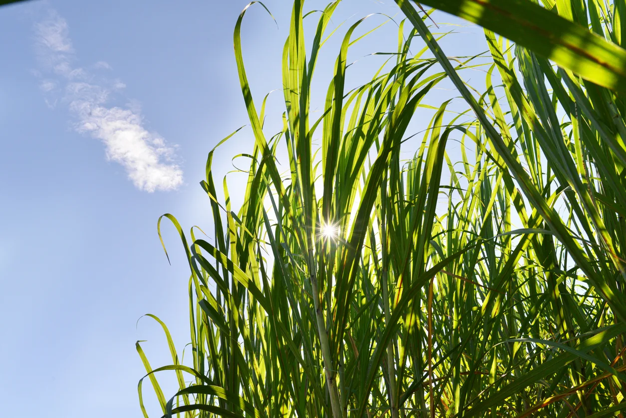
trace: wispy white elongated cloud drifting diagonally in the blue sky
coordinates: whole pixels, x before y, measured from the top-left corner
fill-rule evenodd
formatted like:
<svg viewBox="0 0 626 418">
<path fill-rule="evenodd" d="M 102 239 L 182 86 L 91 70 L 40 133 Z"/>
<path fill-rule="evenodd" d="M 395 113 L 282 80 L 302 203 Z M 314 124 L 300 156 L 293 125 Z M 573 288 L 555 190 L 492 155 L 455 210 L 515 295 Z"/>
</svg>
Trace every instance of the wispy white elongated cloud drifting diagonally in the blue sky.
<svg viewBox="0 0 626 418">
<path fill-rule="evenodd" d="M 143 126 L 138 108 L 108 107 L 110 96 L 125 88 L 120 80 L 96 78 L 75 65 L 76 52 L 69 38 L 68 24 L 56 11 L 35 24 L 36 52 L 42 70 L 39 87 L 46 103 L 54 107 L 60 94 L 78 122 L 77 132 L 87 133 L 105 145 L 106 157 L 125 167 L 128 178 L 147 192 L 177 189 L 183 172 L 176 164 L 176 145 L 168 145 L 158 133 Z M 92 68 L 111 70 L 105 61 Z"/>
</svg>

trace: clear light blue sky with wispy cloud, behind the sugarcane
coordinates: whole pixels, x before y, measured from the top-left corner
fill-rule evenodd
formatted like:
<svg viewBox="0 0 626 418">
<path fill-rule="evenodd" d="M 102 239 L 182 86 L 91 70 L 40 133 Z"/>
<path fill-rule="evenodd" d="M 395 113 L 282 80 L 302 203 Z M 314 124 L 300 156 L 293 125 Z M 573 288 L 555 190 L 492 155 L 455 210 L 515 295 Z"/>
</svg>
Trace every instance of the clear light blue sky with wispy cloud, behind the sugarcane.
<svg viewBox="0 0 626 418">
<path fill-rule="evenodd" d="M 245 4 L 59 0 L 0 9 L 4 416 L 139 417 L 136 386 L 144 369 L 135 341 L 148 340 L 143 348 L 153 367 L 169 361 L 160 327 L 143 318 L 136 328 L 136 321 L 160 316 L 179 354 L 188 342 L 187 266 L 168 226 L 167 263 L 156 220 L 171 212 L 187 231 L 196 224 L 210 229 L 198 185 L 207 153 L 247 122 L 232 50 Z M 278 28 L 255 7 L 242 29 L 257 100 L 280 88 L 291 6 L 265 4 Z M 305 8 L 325 4 L 312 0 Z M 392 0 L 346 0 L 333 24 L 369 13 L 398 11 Z M 384 19 L 372 16 L 364 27 Z M 443 42 L 449 55 L 486 50 L 477 31 L 458 30 Z M 340 40 L 326 46 L 317 65 L 323 89 L 314 92 L 313 107 L 323 103 Z M 362 57 L 396 45 L 393 24 L 357 44 L 353 80 L 369 80 L 380 62 Z M 433 103 L 450 95 L 441 90 Z M 282 123 L 279 112 L 276 93 L 269 128 Z M 217 154 L 218 172 L 251 149 L 244 128 Z M 161 380 L 171 393 L 172 376 Z M 150 385 L 144 387 L 148 412 L 160 416 Z"/>
</svg>

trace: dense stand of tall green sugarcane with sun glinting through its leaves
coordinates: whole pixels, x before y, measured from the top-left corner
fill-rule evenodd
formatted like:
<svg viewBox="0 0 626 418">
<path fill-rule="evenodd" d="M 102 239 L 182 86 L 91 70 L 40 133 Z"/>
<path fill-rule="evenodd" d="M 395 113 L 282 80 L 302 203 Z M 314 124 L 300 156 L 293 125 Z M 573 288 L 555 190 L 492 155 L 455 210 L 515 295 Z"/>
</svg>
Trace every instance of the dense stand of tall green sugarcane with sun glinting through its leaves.
<svg viewBox="0 0 626 418">
<path fill-rule="evenodd" d="M 188 241 L 171 214 L 158 221 L 159 236 L 164 219 L 176 227 L 187 256 L 193 357 L 183 365 L 152 316 L 172 364 L 152 369 L 136 347 L 163 415 L 600 417 L 626 409 L 620 93 L 489 29 L 492 62 L 478 93 L 459 71 L 480 64 L 446 57 L 426 14 L 398 3 L 413 28 L 399 23 L 393 58 L 348 90 L 347 52 L 369 34 L 356 35 L 363 19 L 350 26 L 314 118 L 312 76 L 339 1 L 319 13 L 307 53 L 309 14 L 295 0 L 283 128 L 274 134 L 264 128 L 267 96 L 257 111 L 242 56 L 252 3 L 240 14 L 235 58 L 254 135 L 244 203 L 231 207 L 226 180 L 218 199 L 213 149 L 201 182 L 212 238 L 192 228 Z M 592 23 L 612 41 L 607 22 Z M 446 79 L 466 112 L 425 104 Z M 424 117 L 428 128 L 413 132 L 411 121 Z M 162 370 L 174 370 L 179 385 L 167 397 Z"/>
</svg>

